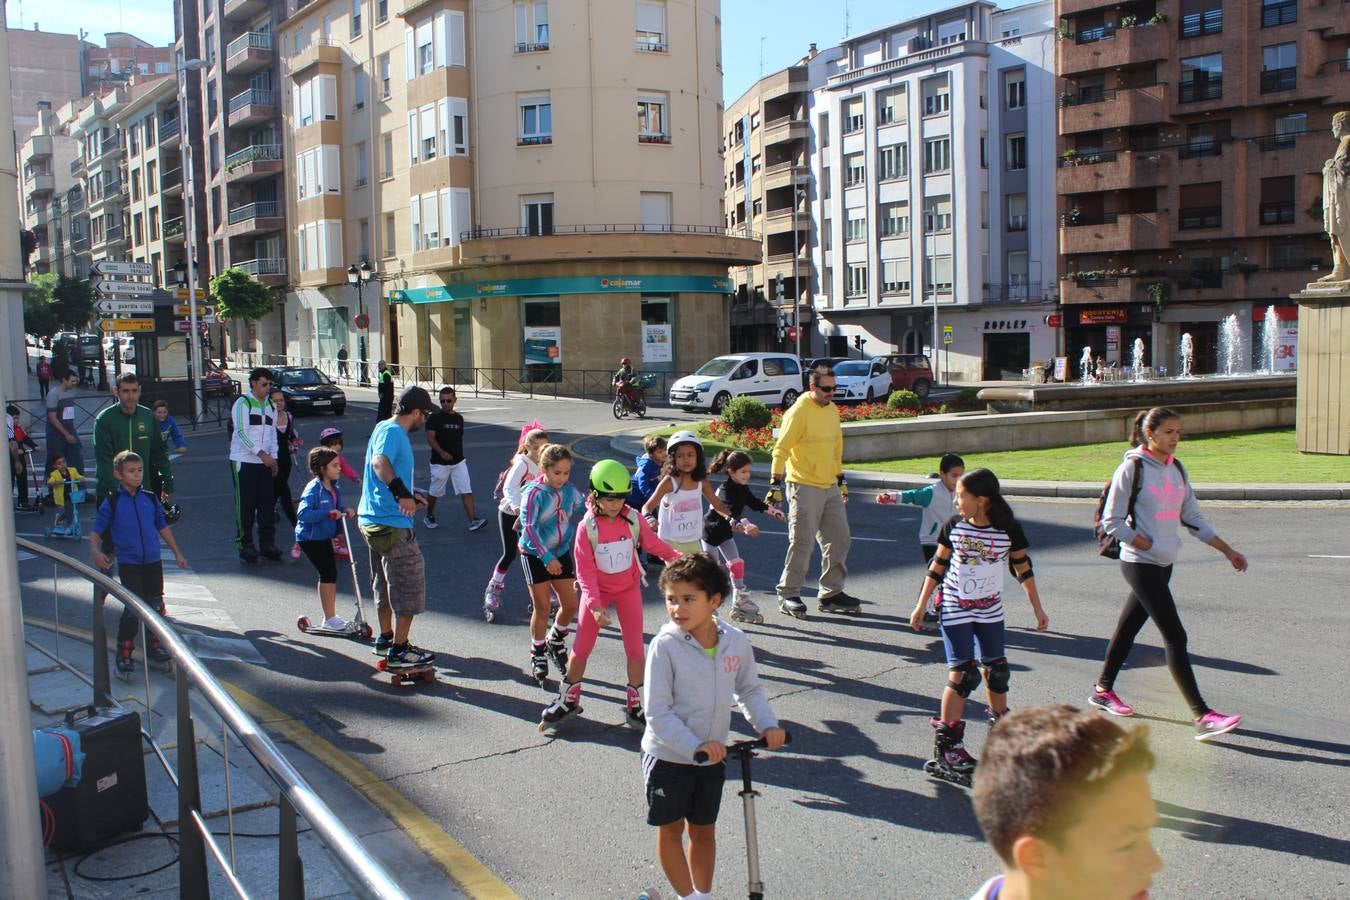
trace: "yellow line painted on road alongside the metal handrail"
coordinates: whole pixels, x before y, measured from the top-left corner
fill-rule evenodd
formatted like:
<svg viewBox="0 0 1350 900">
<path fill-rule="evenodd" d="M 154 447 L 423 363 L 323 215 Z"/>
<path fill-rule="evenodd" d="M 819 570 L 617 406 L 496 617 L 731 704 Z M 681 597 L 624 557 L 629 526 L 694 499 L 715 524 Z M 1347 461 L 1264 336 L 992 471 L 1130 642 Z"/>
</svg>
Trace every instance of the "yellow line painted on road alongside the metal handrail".
<svg viewBox="0 0 1350 900">
<path fill-rule="evenodd" d="M 27 625 L 55 630 L 57 623 L 32 615 L 24 615 Z M 93 634 L 84 629 L 61 626 L 62 634 L 76 637 L 86 644 L 93 642 Z M 381 812 L 393 819 L 417 847 L 446 870 L 456 885 L 477 900 L 517 900 L 514 891 L 506 887 L 487 866 L 478 861 L 464 845 L 455 841 L 436 822 L 423 812 L 417 804 L 381 781 L 379 776 L 367 769 L 351 756 L 315 734 L 309 727 L 282 712 L 266 700 L 261 700 L 238 684 L 220 679 L 220 684 L 248 715 L 255 718 L 269 731 L 304 749 L 309 756 L 328 766 L 362 796 L 370 800 Z"/>
</svg>

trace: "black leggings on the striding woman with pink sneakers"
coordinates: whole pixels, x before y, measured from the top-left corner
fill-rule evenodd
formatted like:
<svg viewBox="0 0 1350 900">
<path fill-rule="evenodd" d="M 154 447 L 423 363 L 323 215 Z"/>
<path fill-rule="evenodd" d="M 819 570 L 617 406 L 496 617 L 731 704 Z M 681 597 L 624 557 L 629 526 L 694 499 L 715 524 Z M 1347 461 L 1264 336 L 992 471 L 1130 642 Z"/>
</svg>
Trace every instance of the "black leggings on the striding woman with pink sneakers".
<svg viewBox="0 0 1350 900">
<path fill-rule="evenodd" d="M 1162 645 L 1168 652 L 1168 669 L 1172 672 L 1172 680 L 1177 683 L 1185 702 L 1191 704 L 1191 711 L 1197 716 L 1204 715 L 1210 707 L 1204 704 L 1200 698 L 1200 687 L 1195 683 L 1191 654 L 1185 649 L 1185 629 L 1181 626 L 1176 600 L 1172 599 L 1172 590 L 1168 587 L 1168 582 L 1172 580 L 1172 567 L 1122 561 L 1120 573 L 1125 575 L 1125 580 L 1130 586 L 1130 596 L 1115 623 L 1115 634 L 1111 636 L 1111 644 L 1106 649 L 1106 663 L 1102 664 L 1098 684 L 1107 691 L 1115 685 L 1115 676 L 1125 665 L 1125 658 L 1130 656 L 1134 637 L 1152 618 L 1153 623 L 1158 626 L 1158 631 L 1162 633 Z"/>
</svg>

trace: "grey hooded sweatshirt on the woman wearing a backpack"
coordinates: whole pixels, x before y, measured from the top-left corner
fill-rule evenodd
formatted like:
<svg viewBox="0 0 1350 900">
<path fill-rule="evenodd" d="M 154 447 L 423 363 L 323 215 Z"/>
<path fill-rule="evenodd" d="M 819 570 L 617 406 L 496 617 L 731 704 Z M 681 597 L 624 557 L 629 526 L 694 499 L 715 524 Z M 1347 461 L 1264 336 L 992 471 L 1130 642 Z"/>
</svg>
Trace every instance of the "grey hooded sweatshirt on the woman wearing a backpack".
<svg viewBox="0 0 1350 900">
<path fill-rule="evenodd" d="M 1143 486 L 1134 501 L 1133 521 L 1126 521 L 1130 505 L 1130 491 L 1134 487 L 1134 460 L 1142 460 L 1139 471 Z M 1120 541 L 1122 563 L 1149 563 L 1150 565 L 1172 565 L 1181 549 L 1181 536 L 1177 522 L 1200 541 L 1211 541 L 1214 529 L 1200 513 L 1191 482 L 1181 475 L 1172 457 L 1160 463 L 1142 447 L 1126 451 L 1125 461 L 1111 478 L 1111 491 L 1102 513 L 1102 528 L 1107 534 Z M 1146 551 L 1130 544 L 1135 534 L 1143 534 L 1153 546 Z"/>
</svg>

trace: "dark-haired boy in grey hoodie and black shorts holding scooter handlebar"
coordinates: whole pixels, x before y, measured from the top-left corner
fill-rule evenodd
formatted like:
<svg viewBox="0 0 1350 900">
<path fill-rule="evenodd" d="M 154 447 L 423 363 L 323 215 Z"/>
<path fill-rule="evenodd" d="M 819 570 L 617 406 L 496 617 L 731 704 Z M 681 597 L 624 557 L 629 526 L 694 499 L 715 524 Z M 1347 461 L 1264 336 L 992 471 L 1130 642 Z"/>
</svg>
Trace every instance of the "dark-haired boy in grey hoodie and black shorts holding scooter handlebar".
<svg viewBox="0 0 1350 900">
<path fill-rule="evenodd" d="M 717 617 L 732 591 L 717 560 L 707 553 L 678 559 L 662 572 L 660 588 L 671 621 L 647 653 L 647 823 L 657 828 L 657 857 L 675 892 L 711 897 L 732 703 L 770 750 L 787 735 L 764 696 L 749 640 Z M 698 752 L 707 762 L 694 762 Z"/>
</svg>

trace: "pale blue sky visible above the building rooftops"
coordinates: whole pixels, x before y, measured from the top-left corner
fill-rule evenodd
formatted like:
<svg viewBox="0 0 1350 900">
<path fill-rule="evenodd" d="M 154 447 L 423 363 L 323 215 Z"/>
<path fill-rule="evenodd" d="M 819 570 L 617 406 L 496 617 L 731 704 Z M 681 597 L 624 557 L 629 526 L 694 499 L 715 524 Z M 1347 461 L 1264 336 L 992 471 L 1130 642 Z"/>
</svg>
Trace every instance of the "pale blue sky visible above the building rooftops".
<svg viewBox="0 0 1350 900">
<path fill-rule="evenodd" d="M 722 0 L 722 96 L 730 103 L 760 74 L 806 55 L 813 40 L 822 50 L 837 45 L 845 35 L 845 18 L 848 34 L 863 34 L 956 4 L 957 0 Z M 130 31 L 157 46 L 173 43 L 173 0 L 5 0 L 5 7 L 11 28 L 31 28 L 36 22 L 43 31 L 76 34 L 85 28 L 96 43 L 103 43 L 105 31 Z"/>
</svg>

